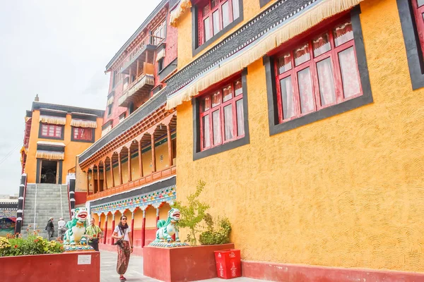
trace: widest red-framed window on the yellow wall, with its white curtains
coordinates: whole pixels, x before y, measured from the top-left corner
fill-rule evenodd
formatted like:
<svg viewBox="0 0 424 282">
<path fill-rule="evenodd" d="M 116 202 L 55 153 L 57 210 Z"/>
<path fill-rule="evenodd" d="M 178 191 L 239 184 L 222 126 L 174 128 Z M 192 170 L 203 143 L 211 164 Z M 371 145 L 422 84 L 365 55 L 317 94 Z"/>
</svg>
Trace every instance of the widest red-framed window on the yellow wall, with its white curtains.
<svg viewBox="0 0 424 282">
<path fill-rule="evenodd" d="M 283 51 L 275 68 L 280 123 L 363 94 L 351 20 Z"/>
</svg>

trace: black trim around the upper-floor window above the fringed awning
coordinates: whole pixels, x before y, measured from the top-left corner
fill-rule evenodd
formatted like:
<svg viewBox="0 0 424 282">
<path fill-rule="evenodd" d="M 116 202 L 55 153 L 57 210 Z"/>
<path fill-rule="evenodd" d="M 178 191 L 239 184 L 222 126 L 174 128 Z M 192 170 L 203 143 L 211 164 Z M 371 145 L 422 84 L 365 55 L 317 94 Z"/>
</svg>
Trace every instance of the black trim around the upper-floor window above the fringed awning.
<svg viewBox="0 0 424 282">
<path fill-rule="evenodd" d="M 229 25 L 224 27 L 220 32 L 218 32 L 216 35 L 213 35 L 213 37 L 209 38 L 208 41 L 204 42 L 204 44 L 201 44 L 199 46 L 199 13 L 198 8 L 196 5 L 192 6 L 192 56 L 196 56 L 201 51 L 206 49 L 206 47 L 210 46 L 213 42 L 216 41 L 219 37 L 223 36 L 226 32 L 232 29 L 232 27 L 235 27 L 239 23 L 243 21 L 243 0 L 239 1 L 239 11 L 240 16 L 233 20 Z"/>
</svg>

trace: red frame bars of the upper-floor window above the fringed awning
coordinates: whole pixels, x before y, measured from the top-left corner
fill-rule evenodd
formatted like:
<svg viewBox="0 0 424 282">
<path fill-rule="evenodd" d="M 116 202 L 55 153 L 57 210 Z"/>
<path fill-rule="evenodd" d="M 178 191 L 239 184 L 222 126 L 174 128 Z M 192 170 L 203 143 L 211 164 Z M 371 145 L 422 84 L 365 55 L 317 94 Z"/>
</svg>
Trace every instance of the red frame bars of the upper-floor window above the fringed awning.
<svg viewBox="0 0 424 282">
<path fill-rule="evenodd" d="M 230 15 L 228 15 L 228 25 L 230 25 L 230 23 L 232 23 L 235 19 L 240 17 L 240 4 L 237 5 L 239 7 L 239 11 L 238 11 L 238 17 L 234 18 L 233 14 L 233 1 L 239 1 L 239 0 L 206 0 L 206 1 L 202 1 L 201 4 L 199 4 L 198 6 L 198 13 L 199 13 L 199 46 L 201 46 L 202 44 L 204 44 L 206 41 L 208 41 L 208 39 L 211 39 L 214 34 L 213 34 L 213 13 L 215 13 L 216 11 L 218 11 L 218 16 L 219 16 L 219 30 L 216 32 L 220 32 L 221 30 L 223 30 L 224 26 L 223 26 L 223 5 L 225 3 L 228 2 L 228 12 L 230 13 Z M 212 4 L 215 4 L 216 6 L 212 7 Z M 205 9 L 206 6 L 208 6 L 208 9 Z M 206 18 L 209 18 L 209 38 L 206 38 L 205 35 L 205 27 L 204 27 L 204 20 L 206 20 Z M 226 25 L 227 26 L 227 25 Z"/>
</svg>

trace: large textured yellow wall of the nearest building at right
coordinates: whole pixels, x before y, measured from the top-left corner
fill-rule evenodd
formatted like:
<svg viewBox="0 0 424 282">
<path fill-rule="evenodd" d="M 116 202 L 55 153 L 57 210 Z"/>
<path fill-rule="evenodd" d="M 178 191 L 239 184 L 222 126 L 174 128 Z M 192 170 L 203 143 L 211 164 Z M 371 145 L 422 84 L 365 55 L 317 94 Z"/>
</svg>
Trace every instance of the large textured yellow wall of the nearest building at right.
<svg viewBox="0 0 424 282">
<path fill-rule="evenodd" d="M 177 107 L 177 199 L 206 181 L 201 200 L 228 216 L 242 259 L 424 271 L 424 88 L 411 90 L 396 0 L 360 8 L 374 103 L 270 137 L 259 60 L 247 75 L 250 144 L 197 161 L 192 104 Z"/>
</svg>

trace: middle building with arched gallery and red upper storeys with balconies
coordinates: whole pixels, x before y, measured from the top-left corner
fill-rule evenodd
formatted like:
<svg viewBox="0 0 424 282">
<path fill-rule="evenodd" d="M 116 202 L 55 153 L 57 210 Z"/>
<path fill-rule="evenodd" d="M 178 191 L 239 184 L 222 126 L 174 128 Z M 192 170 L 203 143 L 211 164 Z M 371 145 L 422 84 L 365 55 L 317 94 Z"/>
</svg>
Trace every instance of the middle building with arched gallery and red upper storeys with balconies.
<svg viewBox="0 0 424 282">
<path fill-rule="evenodd" d="M 79 156 L 87 205 L 111 246 L 115 220 L 132 219 L 136 252 L 155 237 L 175 199 L 175 111 L 165 110 L 164 81 L 177 70 L 175 1 L 161 1 L 106 66 L 110 88 L 102 138 Z"/>
</svg>

